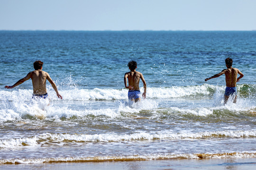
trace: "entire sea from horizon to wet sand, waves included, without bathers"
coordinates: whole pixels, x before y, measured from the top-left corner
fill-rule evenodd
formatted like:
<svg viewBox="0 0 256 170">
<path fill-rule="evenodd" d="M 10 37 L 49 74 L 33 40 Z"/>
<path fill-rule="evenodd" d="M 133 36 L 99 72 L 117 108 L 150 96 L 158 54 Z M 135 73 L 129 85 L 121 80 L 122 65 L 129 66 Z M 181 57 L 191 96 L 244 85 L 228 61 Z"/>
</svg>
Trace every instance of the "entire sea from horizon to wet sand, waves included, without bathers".
<svg viewBox="0 0 256 170">
<path fill-rule="evenodd" d="M 245 76 L 223 106 L 226 68 Z M 32 100 L 34 70 L 48 100 Z M 146 99 L 128 101 L 128 62 Z M 250 158 L 256 163 L 256 31 L 0 31 L 0 168 L 12 163 Z M 141 92 L 143 83 L 140 82 Z M 50 105 L 48 106 L 48 104 Z"/>
</svg>

